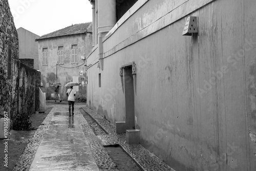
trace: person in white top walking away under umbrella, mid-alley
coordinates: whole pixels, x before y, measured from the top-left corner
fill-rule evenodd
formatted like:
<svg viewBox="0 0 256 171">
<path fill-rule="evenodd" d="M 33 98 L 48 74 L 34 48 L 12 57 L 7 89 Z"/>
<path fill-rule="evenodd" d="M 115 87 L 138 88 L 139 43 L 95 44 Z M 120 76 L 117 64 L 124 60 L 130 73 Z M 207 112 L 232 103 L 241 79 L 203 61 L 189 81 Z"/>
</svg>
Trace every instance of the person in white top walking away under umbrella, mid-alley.
<svg viewBox="0 0 256 171">
<path fill-rule="evenodd" d="M 71 105 L 72 105 L 72 115 L 74 115 L 74 104 L 75 104 L 75 96 L 76 91 L 73 89 L 73 86 L 79 86 L 76 82 L 69 82 L 64 87 L 70 87 L 67 90 L 68 102 L 69 102 L 69 116 L 71 116 Z"/>
</svg>

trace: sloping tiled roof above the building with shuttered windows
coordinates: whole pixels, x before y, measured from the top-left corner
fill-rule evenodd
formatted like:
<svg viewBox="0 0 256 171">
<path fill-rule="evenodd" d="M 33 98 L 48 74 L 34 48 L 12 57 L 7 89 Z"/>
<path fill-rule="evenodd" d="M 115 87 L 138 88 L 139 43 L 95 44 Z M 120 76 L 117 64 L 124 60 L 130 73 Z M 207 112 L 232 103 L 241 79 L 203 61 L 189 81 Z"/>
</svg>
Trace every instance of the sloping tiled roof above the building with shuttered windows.
<svg viewBox="0 0 256 171">
<path fill-rule="evenodd" d="M 37 41 L 39 39 L 72 35 L 72 34 L 80 34 L 80 33 L 86 33 L 86 32 L 92 32 L 92 22 L 75 24 L 75 25 L 54 31 L 52 33 L 42 35 L 41 37 L 38 37 L 35 40 Z"/>
</svg>

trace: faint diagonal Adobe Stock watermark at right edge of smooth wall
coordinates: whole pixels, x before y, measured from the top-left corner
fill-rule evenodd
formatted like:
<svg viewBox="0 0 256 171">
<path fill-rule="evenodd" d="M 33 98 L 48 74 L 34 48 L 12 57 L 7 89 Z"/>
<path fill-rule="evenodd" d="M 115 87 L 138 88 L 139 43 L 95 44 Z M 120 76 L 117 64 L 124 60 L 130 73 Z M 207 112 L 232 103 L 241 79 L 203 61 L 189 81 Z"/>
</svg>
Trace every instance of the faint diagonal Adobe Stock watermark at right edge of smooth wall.
<svg viewBox="0 0 256 171">
<path fill-rule="evenodd" d="M 200 96 L 200 98 L 203 97 L 203 94 L 206 94 L 209 92 L 213 86 L 217 83 L 218 80 L 221 80 L 224 77 L 224 74 L 228 73 L 229 67 L 236 67 L 238 61 L 242 60 L 243 56 L 245 55 L 245 52 L 249 52 L 255 48 L 256 41 L 253 41 L 252 38 L 250 40 L 245 39 L 245 47 L 239 49 L 236 53 L 233 53 L 232 55 L 229 55 L 226 60 L 228 65 L 222 66 L 221 69 L 217 72 L 212 73 L 212 77 L 210 77 L 208 80 L 204 80 L 204 86 L 203 88 L 197 88 L 197 92 Z"/>
</svg>

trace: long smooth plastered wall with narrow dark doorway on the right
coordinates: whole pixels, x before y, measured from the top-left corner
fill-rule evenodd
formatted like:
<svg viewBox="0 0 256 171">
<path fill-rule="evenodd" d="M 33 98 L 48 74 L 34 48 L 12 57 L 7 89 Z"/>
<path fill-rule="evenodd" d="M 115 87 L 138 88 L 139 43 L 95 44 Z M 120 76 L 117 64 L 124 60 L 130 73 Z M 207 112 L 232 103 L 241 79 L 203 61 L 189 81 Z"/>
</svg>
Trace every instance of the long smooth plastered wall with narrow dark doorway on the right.
<svg viewBox="0 0 256 171">
<path fill-rule="evenodd" d="M 143 146 L 176 170 L 255 170 L 255 7 L 139 0 L 103 37 L 103 67 L 98 46 L 88 58 L 88 105 L 124 121 L 119 68 L 135 61 Z M 187 16 L 197 16 L 198 34 L 182 36 Z"/>
</svg>

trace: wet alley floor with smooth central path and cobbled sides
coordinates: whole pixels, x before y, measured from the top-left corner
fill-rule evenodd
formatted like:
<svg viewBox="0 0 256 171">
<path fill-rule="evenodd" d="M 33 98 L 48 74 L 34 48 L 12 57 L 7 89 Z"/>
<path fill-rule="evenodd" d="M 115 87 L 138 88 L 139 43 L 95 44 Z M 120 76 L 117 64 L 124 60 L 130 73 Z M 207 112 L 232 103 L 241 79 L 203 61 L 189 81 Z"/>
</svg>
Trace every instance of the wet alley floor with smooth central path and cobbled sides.
<svg viewBox="0 0 256 171">
<path fill-rule="evenodd" d="M 49 104 L 13 170 L 173 170 L 140 144 L 127 144 L 125 134 L 115 134 L 115 126 L 84 103 L 71 117 L 67 104 Z"/>
</svg>

